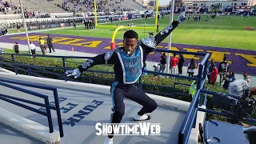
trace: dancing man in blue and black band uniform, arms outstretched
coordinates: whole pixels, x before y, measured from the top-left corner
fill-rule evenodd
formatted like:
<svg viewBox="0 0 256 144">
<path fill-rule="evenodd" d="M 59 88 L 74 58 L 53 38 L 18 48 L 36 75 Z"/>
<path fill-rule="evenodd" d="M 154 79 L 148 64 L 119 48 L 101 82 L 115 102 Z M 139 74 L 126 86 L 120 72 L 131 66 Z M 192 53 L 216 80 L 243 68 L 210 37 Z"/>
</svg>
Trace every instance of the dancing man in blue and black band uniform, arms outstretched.
<svg viewBox="0 0 256 144">
<path fill-rule="evenodd" d="M 182 6 L 181 13 L 178 16 L 178 20 L 172 22 L 172 24 L 166 29 L 162 30 L 155 37 L 150 33 L 149 38 L 142 38 L 138 41 L 138 34 L 134 30 L 128 30 L 123 35 L 123 46 L 116 48 L 105 54 L 99 54 L 94 58 L 88 59 L 81 66 L 78 66 L 75 70 L 68 70 L 67 76 L 74 76 L 78 78 L 83 71 L 89 69 L 92 66 L 99 64 L 112 64 L 114 65 L 114 83 L 110 88 L 110 94 L 112 96 L 113 107 L 110 123 L 120 123 L 122 116 L 125 113 L 125 105 L 123 103 L 124 98 L 129 98 L 134 102 L 138 102 L 142 105 L 142 109 L 138 111 L 134 116 L 135 121 L 149 120 L 151 113 L 158 105 L 157 103 L 147 96 L 142 90 L 139 90 L 134 83 L 142 74 L 142 69 L 145 66 L 146 57 L 150 52 L 156 49 L 156 46 L 162 40 L 164 40 L 180 22 L 183 22 L 186 17 L 186 6 Z M 108 135 L 105 144 L 113 143 L 113 131 L 112 135 Z"/>
</svg>

